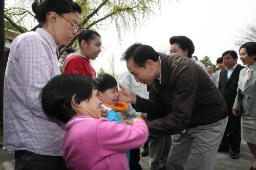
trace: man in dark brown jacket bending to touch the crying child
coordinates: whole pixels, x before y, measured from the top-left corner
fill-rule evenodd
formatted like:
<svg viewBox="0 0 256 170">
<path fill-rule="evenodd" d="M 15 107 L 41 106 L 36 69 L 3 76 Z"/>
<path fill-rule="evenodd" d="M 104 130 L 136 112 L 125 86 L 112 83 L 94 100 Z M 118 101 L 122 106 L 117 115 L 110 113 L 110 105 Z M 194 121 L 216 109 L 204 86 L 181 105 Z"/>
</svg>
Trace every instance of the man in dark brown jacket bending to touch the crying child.
<svg viewBox="0 0 256 170">
<path fill-rule="evenodd" d="M 147 122 L 150 136 L 173 135 L 166 169 L 213 170 L 228 118 L 225 100 L 208 75 L 188 58 L 166 56 L 140 43 L 121 59 L 137 82 L 152 85 L 155 97 L 140 98 L 120 84 L 119 101 L 139 112 L 168 113 Z"/>
</svg>

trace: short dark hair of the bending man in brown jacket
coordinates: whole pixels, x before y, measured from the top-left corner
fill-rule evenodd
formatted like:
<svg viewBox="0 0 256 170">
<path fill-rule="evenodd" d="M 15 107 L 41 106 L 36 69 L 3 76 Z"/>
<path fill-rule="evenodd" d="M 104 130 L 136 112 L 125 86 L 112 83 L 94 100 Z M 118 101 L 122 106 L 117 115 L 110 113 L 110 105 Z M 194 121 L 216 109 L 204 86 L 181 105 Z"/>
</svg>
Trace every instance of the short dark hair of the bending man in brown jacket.
<svg viewBox="0 0 256 170">
<path fill-rule="evenodd" d="M 123 53 L 120 60 L 129 60 L 133 58 L 135 64 L 139 67 L 145 67 L 145 62 L 147 60 L 158 61 L 159 54 L 150 45 L 143 45 L 141 43 L 132 44 Z"/>
</svg>

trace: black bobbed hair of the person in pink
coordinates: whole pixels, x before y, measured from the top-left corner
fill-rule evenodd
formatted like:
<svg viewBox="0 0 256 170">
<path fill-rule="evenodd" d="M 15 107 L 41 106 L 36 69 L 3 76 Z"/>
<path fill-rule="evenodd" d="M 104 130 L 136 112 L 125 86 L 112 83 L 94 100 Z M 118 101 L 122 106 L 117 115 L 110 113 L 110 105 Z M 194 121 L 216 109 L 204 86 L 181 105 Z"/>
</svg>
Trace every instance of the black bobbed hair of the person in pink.
<svg viewBox="0 0 256 170">
<path fill-rule="evenodd" d="M 91 78 L 75 74 L 55 76 L 41 91 L 42 109 L 50 116 L 66 123 L 76 115 L 71 106 L 73 95 L 74 102 L 80 104 L 91 99 L 94 89 L 97 89 L 97 84 Z"/>
</svg>

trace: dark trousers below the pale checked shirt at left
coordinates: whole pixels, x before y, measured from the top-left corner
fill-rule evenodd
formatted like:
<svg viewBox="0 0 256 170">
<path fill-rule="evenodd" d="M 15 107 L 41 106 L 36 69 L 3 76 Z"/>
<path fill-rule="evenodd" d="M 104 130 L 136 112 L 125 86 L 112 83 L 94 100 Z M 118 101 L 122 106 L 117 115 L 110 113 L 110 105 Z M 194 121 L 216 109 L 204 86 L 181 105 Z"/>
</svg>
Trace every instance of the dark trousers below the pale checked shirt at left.
<svg viewBox="0 0 256 170">
<path fill-rule="evenodd" d="M 33 170 L 66 170 L 68 169 L 62 156 L 38 155 L 26 150 L 15 151 L 15 169 Z"/>
</svg>

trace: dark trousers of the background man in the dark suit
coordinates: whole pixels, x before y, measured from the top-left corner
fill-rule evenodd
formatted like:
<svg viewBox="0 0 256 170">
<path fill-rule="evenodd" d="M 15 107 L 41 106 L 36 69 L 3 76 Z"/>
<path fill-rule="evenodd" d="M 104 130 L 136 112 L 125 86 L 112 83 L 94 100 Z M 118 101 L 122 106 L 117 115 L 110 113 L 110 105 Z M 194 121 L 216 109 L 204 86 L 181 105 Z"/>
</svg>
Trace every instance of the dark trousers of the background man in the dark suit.
<svg viewBox="0 0 256 170">
<path fill-rule="evenodd" d="M 240 153 L 241 143 L 241 116 L 228 113 L 228 123 L 221 140 L 220 148 L 229 148 L 234 153 Z"/>
</svg>

